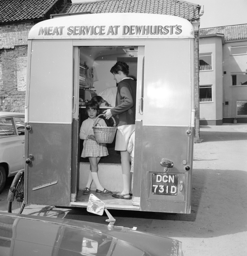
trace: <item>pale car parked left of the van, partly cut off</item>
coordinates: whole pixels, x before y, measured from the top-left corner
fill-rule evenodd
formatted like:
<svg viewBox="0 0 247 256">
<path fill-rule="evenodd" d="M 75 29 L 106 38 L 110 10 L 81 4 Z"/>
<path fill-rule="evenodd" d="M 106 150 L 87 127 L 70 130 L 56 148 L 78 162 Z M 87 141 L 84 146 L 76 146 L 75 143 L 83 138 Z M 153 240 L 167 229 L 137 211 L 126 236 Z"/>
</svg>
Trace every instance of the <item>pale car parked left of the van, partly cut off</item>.
<svg viewBox="0 0 247 256">
<path fill-rule="evenodd" d="M 0 192 L 24 168 L 25 114 L 0 112 Z"/>
</svg>

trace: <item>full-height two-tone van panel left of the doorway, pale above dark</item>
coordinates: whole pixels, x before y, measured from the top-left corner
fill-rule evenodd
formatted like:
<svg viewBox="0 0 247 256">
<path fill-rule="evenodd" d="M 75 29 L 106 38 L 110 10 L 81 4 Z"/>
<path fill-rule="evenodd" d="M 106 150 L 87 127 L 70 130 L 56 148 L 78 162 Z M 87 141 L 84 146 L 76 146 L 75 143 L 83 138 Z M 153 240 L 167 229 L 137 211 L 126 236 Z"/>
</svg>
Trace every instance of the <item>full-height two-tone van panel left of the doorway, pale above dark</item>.
<svg viewBox="0 0 247 256">
<path fill-rule="evenodd" d="M 30 56 L 29 56 L 30 57 Z M 33 40 L 28 81 L 27 203 L 69 206 L 73 47 L 70 40 Z M 73 101 L 74 100 L 74 101 Z"/>
</svg>

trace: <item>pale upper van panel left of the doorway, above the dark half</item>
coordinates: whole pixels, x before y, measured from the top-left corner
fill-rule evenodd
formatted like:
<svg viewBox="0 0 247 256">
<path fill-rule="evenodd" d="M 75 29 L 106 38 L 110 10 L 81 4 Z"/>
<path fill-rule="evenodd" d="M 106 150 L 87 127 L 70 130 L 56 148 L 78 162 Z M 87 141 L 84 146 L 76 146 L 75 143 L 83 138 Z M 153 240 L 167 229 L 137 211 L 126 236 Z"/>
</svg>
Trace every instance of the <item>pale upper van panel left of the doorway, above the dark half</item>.
<svg viewBox="0 0 247 256">
<path fill-rule="evenodd" d="M 33 40 L 31 58 L 29 122 L 71 123 L 72 41 Z"/>
</svg>

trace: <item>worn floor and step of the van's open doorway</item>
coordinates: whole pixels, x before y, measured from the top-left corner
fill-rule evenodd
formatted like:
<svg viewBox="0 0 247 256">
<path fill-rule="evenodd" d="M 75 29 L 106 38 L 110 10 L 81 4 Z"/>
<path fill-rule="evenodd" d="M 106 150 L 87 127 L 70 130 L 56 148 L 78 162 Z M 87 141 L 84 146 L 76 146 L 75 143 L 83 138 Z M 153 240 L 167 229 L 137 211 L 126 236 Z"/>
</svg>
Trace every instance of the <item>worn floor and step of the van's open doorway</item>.
<svg viewBox="0 0 247 256">
<path fill-rule="evenodd" d="M 113 194 L 118 192 L 113 192 Z M 94 194 L 101 201 L 105 203 L 107 209 L 125 209 L 125 210 L 140 210 L 140 206 L 132 205 L 132 200 L 117 199 L 111 195 L 98 195 L 95 191 L 90 191 L 90 194 Z M 87 207 L 89 195 L 84 195 L 83 190 L 79 190 L 76 202 L 70 202 L 70 206 Z"/>
</svg>

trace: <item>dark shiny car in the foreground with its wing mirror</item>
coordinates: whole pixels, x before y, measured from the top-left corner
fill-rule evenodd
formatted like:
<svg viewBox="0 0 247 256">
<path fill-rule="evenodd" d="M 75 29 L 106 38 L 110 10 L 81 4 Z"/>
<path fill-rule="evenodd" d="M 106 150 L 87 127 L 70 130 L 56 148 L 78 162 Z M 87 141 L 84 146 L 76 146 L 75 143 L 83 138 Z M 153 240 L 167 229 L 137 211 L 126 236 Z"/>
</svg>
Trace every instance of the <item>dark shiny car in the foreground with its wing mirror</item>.
<svg viewBox="0 0 247 256">
<path fill-rule="evenodd" d="M 93 194 L 87 210 L 98 215 L 105 210 L 109 224 L 0 212 L 0 255 L 183 256 L 178 240 L 114 226 Z"/>
</svg>

